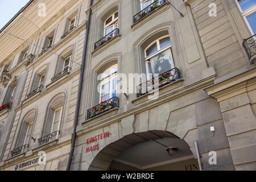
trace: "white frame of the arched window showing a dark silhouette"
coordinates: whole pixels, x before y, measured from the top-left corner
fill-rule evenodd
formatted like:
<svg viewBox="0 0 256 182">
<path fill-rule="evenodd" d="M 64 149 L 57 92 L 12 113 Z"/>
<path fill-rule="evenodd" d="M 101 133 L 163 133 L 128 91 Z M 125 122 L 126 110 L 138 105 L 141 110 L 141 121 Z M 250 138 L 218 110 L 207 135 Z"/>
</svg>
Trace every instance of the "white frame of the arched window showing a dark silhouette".
<svg viewBox="0 0 256 182">
<path fill-rule="evenodd" d="M 164 52 L 166 51 L 167 49 L 171 49 L 172 48 L 172 41 L 171 41 L 171 38 L 170 38 L 170 41 L 171 41 L 171 44 L 166 46 L 166 47 L 163 47 L 162 49 L 160 48 L 160 40 L 164 39 L 164 38 L 170 38 L 169 35 L 166 35 L 166 36 L 162 36 L 161 38 L 159 39 L 156 39 L 154 42 L 152 42 L 151 44 L 149 44 L 149 46 L 146 47 L 146 49 L 144 49 L 144 55 L 145 55 L 145 61 L 146 61 L 146 73 L 147 73 L 147 80 L 151 80 L 152 79 L 152 70 L 151 70 L 151 73 L 150 71 L 148 70 L 148 67 L 149 65 L 148 64 L 151 64 L 150 63 L 150 59 L 156 55 L 158 55 L 159 53 L 161 52 Z M 150 48 L 153 44 L 156 43 L 156 47 L 158 48 L 158 51 L 152 53 L 151 55 L 147 56 L 147 49 Z M 171 51 L 171 56 L 172 56 L 172 59 L 174 59 L 174 55 L 172 55 L 172 51 Z M 174 60 L 173 60 L 174 61 Z M 174 65 L 175 66 L 175 65 Z"/>
</svg>

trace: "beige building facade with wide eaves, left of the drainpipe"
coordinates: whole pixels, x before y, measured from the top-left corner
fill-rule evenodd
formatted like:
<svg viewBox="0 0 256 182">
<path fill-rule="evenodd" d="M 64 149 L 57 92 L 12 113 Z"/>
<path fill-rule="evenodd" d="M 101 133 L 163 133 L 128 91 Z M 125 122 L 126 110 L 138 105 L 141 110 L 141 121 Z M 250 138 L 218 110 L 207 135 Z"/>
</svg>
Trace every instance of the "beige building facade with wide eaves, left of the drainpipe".
<svg viewBox="0 0 256 182">
<path fill-rule="evenodd" d="M 30 1 L 1 32 L 1 170 L 65 170 L 85 9 L 82 0 Z"/>
</svg>

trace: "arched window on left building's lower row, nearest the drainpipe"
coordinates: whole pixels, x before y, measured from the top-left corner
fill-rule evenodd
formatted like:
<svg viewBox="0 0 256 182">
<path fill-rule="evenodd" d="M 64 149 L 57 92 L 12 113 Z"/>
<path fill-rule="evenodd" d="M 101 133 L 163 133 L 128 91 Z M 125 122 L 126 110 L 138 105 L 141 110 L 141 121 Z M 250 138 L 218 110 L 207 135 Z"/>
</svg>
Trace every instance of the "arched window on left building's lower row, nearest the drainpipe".
<svg viewBox="0 0 256 182">
<path fill-rule="evenodd" d="M 39 139 L 40 145 L 59 138 L 61 122 L 63 122 L 64 115 L 64 101 L 65 97 L 61 94 L 53 98 L 53 101 L 50 102 L 47 109 L 46 121 L 44 122 L 42 138 Z"/>
</svg>

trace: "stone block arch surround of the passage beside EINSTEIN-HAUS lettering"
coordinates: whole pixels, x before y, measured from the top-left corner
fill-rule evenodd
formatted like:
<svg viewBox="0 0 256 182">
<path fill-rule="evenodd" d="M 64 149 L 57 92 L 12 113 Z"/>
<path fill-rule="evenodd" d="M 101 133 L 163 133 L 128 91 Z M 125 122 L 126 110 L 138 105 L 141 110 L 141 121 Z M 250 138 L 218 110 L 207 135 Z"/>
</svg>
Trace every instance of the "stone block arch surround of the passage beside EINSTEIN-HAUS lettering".
<svg viewBox="0 0 256 182">
<path fill-rule="evenodd" d="M 119 122 L 86 134 L 84 136 L 85 141 L 101 133 L 108 131 L 111 133 L 108 138 L 94 143 L 85 143 L 84 146 L 77 148 L 78 152 L 81 151 L 80 162 L 82 164 L 80 169 L 97 170 L 97 164 L 105 165 L 105 167 L 98 166 L 98 169 L 108 169 L 112 160 L 127 148 L 138 143 L 147 142 L 148 140 L 166 137 L 183 140 L 188 144 L 193 158 L 196 159 L 195 141 L 199 140 L 197 127 L 195 126 L 196 121 L 190 121 L 192 124 L 182 126 L 184 121 L 170 121 L 170 118 L 172 117 L 169 105 L 162 104 L 154 109 L 142 111 L 137 115 L 130 115 Z M 133 137 L 137 139 L 130 139 Z M 99 150 L 86 153 L 86 147 L 94 146 L 97 143 L 99 144 Z M 110 156 L 106 154 L 110 154 Z M 84 163 L 83 159 L 86 160 L 86 163 Z"/>
</svg>

